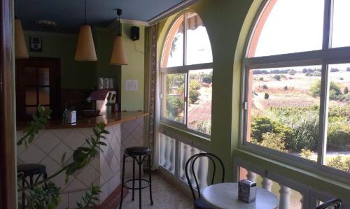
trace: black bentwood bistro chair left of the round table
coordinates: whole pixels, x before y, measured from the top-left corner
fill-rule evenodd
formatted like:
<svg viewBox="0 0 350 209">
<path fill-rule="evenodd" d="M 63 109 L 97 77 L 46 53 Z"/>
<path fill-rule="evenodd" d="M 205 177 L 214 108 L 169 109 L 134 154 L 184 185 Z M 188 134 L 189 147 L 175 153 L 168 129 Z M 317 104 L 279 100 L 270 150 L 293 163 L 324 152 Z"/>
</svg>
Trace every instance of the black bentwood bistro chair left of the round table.
<svg viewBox="0 0 350 209">
<path fill-rule="evenodd" d="M 191 192 L 193 195 L 195 209 L 212 209 L 211 206 L 208 206 L 206 203 L 204 203 L 204 201 L 202 201 L 201 194 L 200 194 L 200 185 L 198 184 L 197 176 L 195 175 L 195 168 L 194 168 L 195 161 L 197 161 L 197 159 L 199 159 L 200 157 L 207 157 L 208 159 L 210 159 L 210 161 L 213 164 L 213 176 L 211 178 L 211 185 L 214 184 L 214 178 L 215 178 L 215 173 L 216 173 L 216 162 L 214 159 L 216 159 L 221 164 L 221 168 L 223 170 L 223 177 L 222 177 L 221 182 L 223 182 L 223 180 L 225 179 L 225 167 L 223 166 L 223 161 L 221 161 L 220 158 L 218 158 L 216 155 L 211 154 L 211 153 L 195 154 L 192 157 L 190 157 L 190 159 L 188 159 L 188 161 L 186 162 L 186 166 L 185 166 L 186 172 L 185 173 L 186 173 L 188 185 L 190 186 L 190 189 L 191 189 Z M 188 175 L 188 166 L 190 164 L 191 164 L 190 172 L 192 173 L 193 178 L 195 179 L 195 185 L 197 187 L 198 197 L 195 194 L 195 189 L 193 189 L 193 184 L 190 180 L 190 175 Z"/>
</svg>

